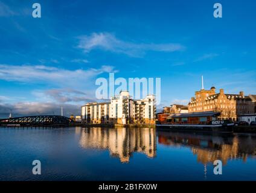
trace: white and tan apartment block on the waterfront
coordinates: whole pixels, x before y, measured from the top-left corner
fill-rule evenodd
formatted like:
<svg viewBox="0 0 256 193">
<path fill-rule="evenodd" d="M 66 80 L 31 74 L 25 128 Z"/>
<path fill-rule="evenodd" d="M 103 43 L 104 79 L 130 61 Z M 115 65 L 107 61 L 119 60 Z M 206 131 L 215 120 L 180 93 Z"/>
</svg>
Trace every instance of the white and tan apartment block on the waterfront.
<svg viewBox="0 0 256 193">
<path fill-rule="evenodd" d="M 112 96 L 109 103 L 88 103 L 82 107 L 82 120 L 91 124 L 155 124 L 154 95 L 133 100 L 127 91 Z"/>
</svg>

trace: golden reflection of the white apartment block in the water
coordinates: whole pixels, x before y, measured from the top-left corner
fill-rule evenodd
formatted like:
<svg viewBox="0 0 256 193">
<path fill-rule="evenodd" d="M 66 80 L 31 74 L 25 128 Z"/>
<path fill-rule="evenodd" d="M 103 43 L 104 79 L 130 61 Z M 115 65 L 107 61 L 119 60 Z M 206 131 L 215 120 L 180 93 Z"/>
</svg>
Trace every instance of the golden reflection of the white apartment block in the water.
<svg viewBox="0 0 256 193">
<path fill-rule="evenodd" d="M 132 153 L 156 156 L 155 128 L 83 128 L 80 146 L 83 148 L 108 149 L 111 156 L 121 162 L 129 162 Z"/>
</svg>

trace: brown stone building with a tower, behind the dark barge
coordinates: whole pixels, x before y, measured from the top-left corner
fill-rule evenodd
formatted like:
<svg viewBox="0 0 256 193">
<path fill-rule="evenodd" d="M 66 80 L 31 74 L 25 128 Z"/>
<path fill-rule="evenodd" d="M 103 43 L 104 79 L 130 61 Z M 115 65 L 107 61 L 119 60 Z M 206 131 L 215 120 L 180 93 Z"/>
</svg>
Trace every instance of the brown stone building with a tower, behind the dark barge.
<svg viewBox="0 0 256 193">
<path fill-rule="evenodd" d="M 243 91 L 238 94 L 225 93 L 220 89 L 216 93 L 213 86 L 210 90 L 202 89 L 195 92 L 188 104 L 188 112 L 220 112 L 221 119 L 238 121 L 238 116 L 255 113 L 254 95 L 245 96 Z"/>
</svg>

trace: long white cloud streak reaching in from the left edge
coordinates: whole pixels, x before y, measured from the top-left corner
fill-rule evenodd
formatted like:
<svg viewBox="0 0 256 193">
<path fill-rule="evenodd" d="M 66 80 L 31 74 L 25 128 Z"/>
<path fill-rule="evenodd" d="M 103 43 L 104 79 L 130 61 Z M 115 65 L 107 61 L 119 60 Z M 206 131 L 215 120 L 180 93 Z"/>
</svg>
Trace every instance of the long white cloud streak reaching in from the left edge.
<svg viewBox="0 0 256 193">
<path fill-rule="evenodd" d="M 117 71 L 114 70 L 113 66 L 101 66 L 99 69 L 69 70 L 44 65 L 0 65 L 0 80 L 74 85 L 76 83 L 82 83 L 85 80 L 90 80 L 104 72 Z"/>
</svg>

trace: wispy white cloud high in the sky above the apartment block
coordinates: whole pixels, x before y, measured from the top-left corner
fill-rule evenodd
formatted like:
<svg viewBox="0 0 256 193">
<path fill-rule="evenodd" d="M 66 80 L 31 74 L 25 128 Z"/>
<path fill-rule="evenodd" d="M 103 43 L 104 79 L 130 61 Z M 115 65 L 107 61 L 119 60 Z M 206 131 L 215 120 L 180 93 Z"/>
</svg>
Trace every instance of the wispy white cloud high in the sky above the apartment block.
<svg viewBox="0 0 256 193">
<path fill-rule="evenodd" d="M 117 39 L 110 33 L 92 33 L 90 36 L 79 37 L 78 48 L 84 52 L 92 49 L 103 49 L 110 52 L 123 53 L 130 57 L 142 57 L 147 51 L 174 52 L 185 49 L 179 43 L 133 43 Z"/>
</svg>

